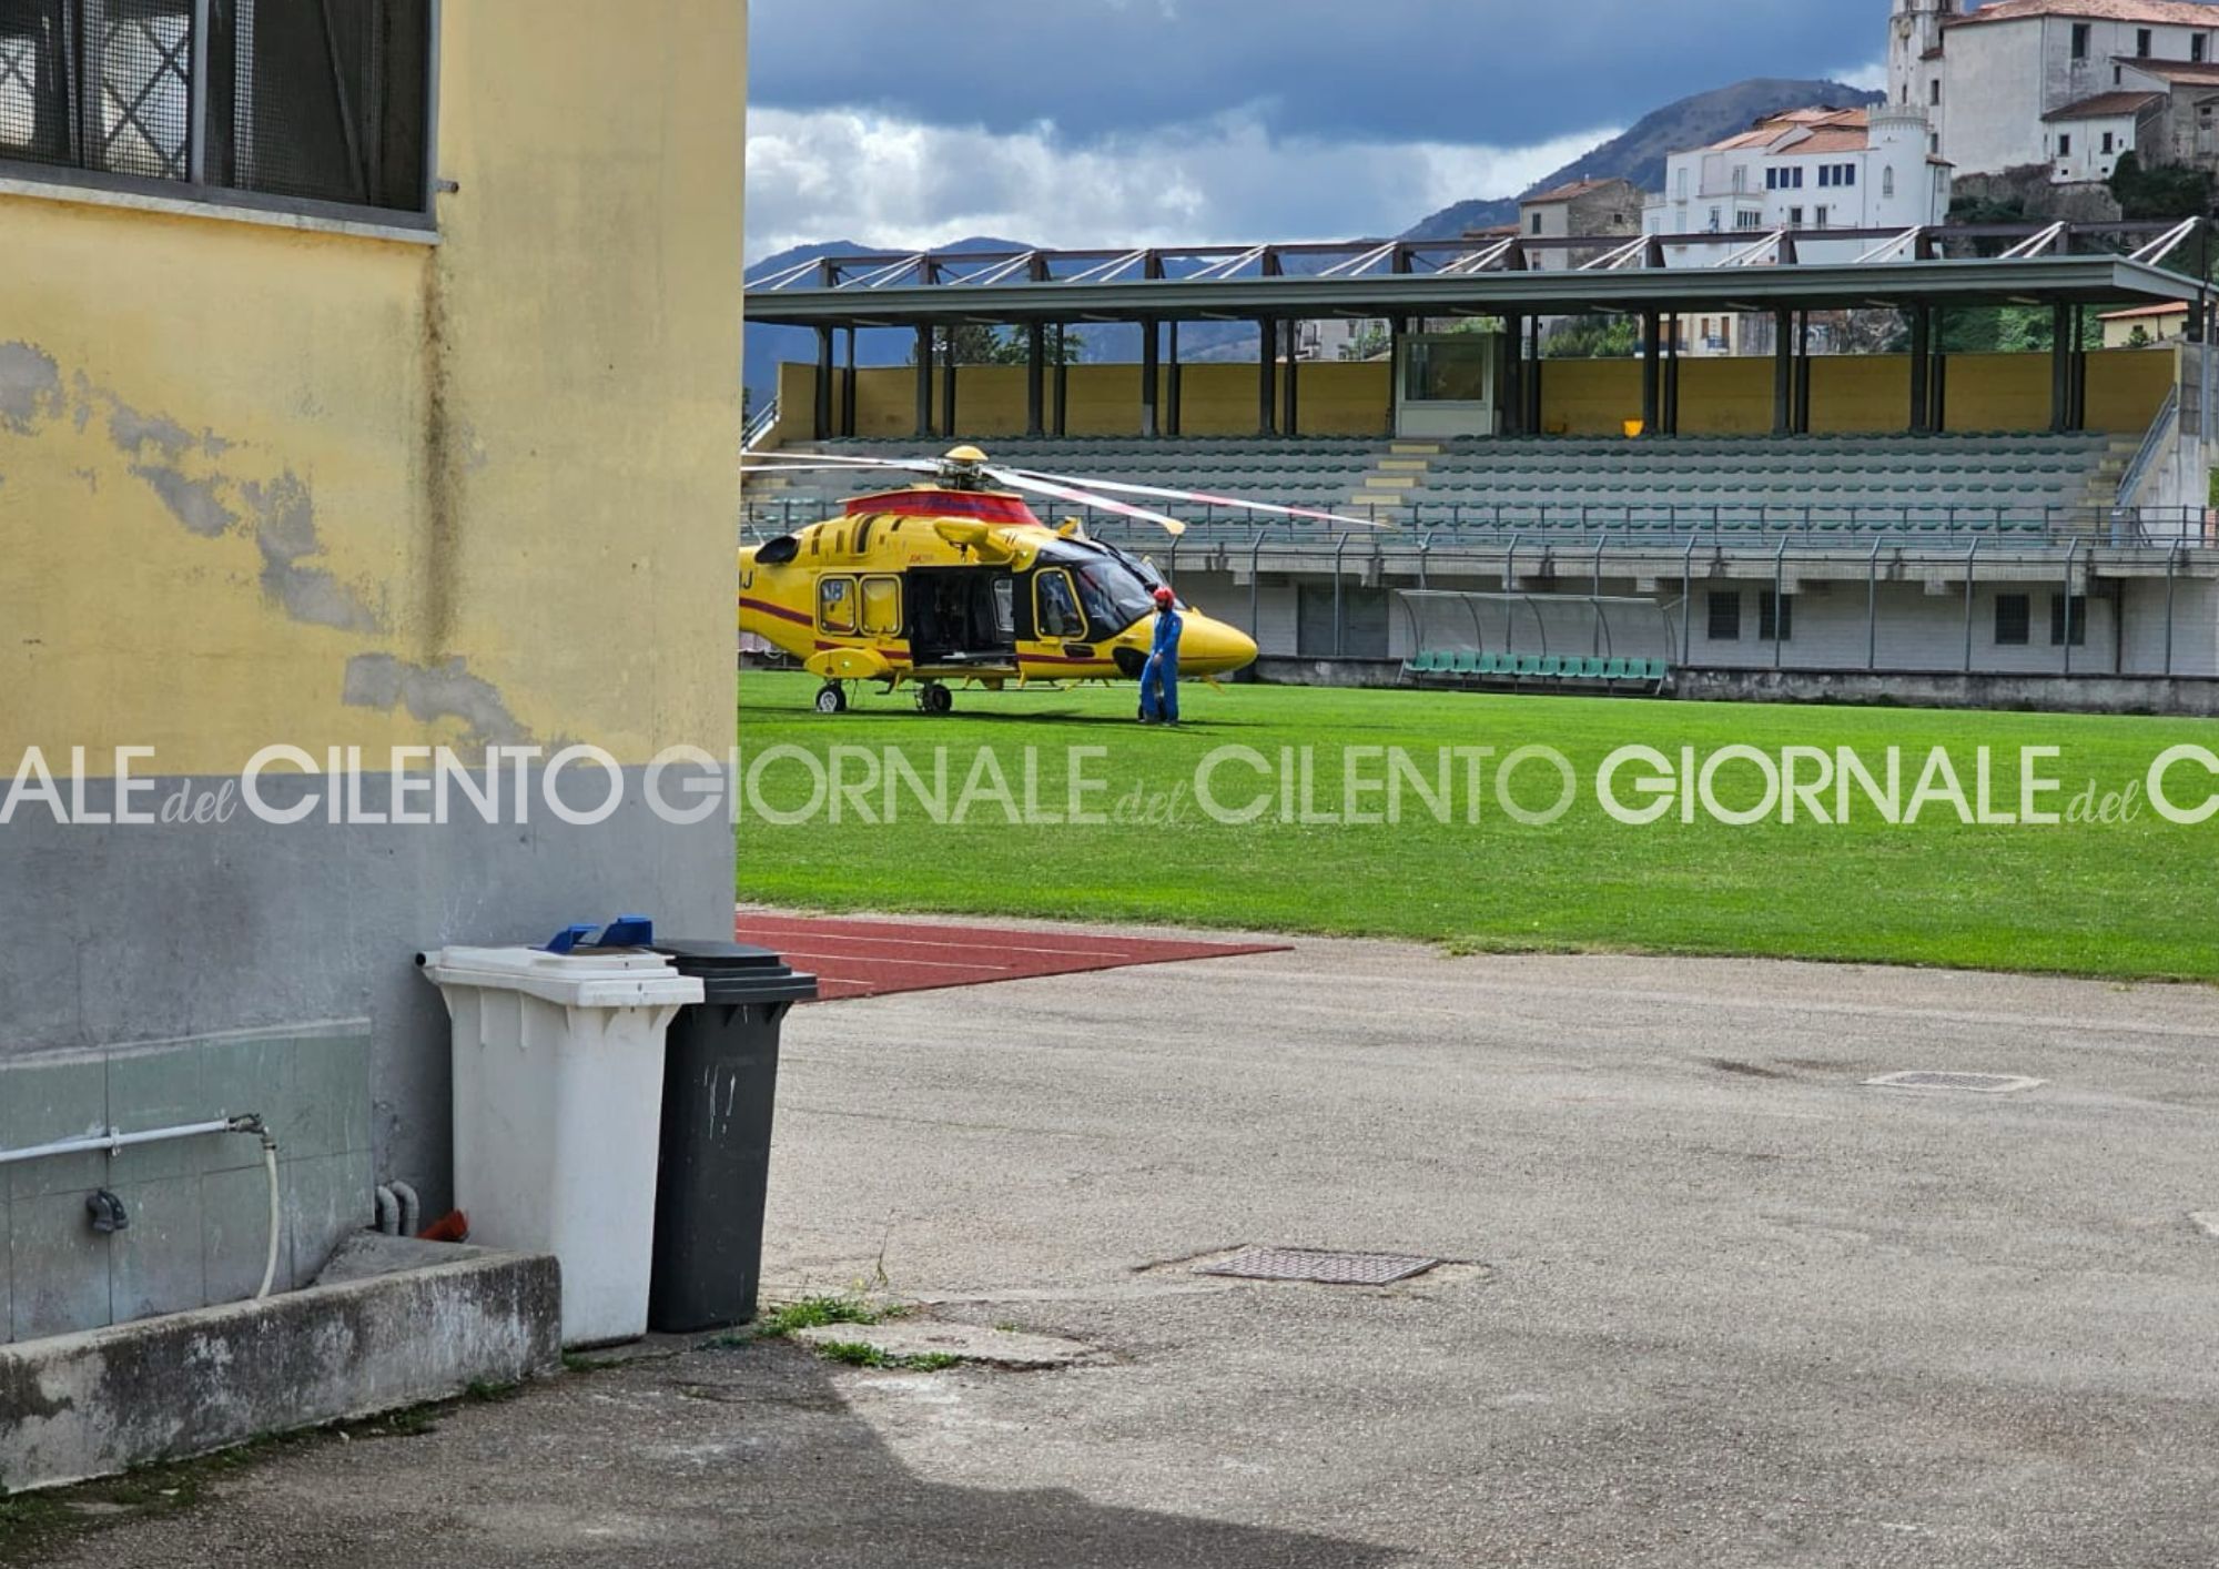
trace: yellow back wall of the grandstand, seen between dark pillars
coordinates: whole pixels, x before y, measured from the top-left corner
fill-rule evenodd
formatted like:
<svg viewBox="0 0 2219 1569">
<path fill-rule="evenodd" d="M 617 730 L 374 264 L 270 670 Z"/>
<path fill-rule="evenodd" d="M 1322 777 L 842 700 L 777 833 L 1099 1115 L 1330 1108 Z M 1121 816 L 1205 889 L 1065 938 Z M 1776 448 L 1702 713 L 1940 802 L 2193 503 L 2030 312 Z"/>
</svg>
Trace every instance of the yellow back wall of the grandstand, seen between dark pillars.
<svg viewBox="0 0 2219 1569">
<path fill-rule="evenodd" d="M 990 439 L 1025 431 L 1025 368 L 963 366 L 956 391 L 963 437 Z M 2172 386 L 2175 357 L 2152 351 L 2088 355 L 2088 426 L 2144 431 Z M 1141 371 L 1132 364 L 1072 366 L 1070 433 L 1138 435 Z M 810 439 L 817 368 L 779 366 L 783 446 Z M 1391 391 L 1385 364 L 1305 364 L 1305 435 L 1382 435 Z M 1165 395 L 1161 408 L 1169 408 Z M 2048 355 L 1951 355 L 1951 431 L 2046 431 L 2050 424 Z M 1549 360 L 1542 368 L 1542 428 L 1551 435 L 1618 435 L 1642 413 L 1635 360 Z M 934 419 L 941 417 L 934 375 Z M 1815 433 L 1902 431 L 1911 424 L 1906 355 L 1820 355 L 1811 360 L 1811 428 Z M 1771 357 L 1682 360 L 1682 435 L 1766 435 L 1773 428 Z M 1256 366 L 1187 366 L 1185 435 L 1254 435 Z M 908 368 L 865 368 L 857 382 L 857 435 L 910 439 L 916 433 L 916 377 Z"/>
</svg>

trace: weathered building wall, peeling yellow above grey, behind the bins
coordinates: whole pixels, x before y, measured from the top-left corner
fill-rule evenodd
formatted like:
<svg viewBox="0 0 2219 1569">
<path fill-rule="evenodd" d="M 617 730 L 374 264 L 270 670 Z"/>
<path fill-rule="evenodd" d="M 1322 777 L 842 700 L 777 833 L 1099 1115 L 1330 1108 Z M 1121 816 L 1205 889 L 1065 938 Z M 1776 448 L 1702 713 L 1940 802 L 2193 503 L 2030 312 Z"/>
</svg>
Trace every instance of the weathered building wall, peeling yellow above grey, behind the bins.
<svg viewBox="0 0 2219 1569">
<path fill-rule="evenodd" d="M 666 828 L 641 768 L 732 737 L 743 100 L 741 7 L 457 0 L 437 244 L 0 189 L 9 770 L 87 748 L 95 808 L 122 746 L 153 748 L 142 806 L 235 783 L 271 743 L 384 770 L 408 746 L 590 741 L 630 770 L 590 830 L 18 812 L 9 1147 L 275 1105 L 280 1145 L 306 1152 L 337 1118 L 344 1170 L 291 1174 L 286 1201 L 291 1269 L 313 1274 L 368 1221 L 373 1178 L 446 1201 L 446 1021 L 419 948 L 619 908 L 728 930 L 728 830 Z M 275 1043 L 244 1083 L 224 1079 L 237 1032 Z M 120 1072 L 144 1041 L 175 1061 Z M 197 1212 L 180 1198 L 129 1245 L 82 1234 L 107 1172 L 16 1167 L 13 1325 L 237 1294 L 262 1196 L 209 1165 L 226 1154 L 180 1150 Z M 193 1289 L 122 1289 L 153 1238 Z M 27 1320 L 27 1283 L 67 1305 Z"/>
</svg>

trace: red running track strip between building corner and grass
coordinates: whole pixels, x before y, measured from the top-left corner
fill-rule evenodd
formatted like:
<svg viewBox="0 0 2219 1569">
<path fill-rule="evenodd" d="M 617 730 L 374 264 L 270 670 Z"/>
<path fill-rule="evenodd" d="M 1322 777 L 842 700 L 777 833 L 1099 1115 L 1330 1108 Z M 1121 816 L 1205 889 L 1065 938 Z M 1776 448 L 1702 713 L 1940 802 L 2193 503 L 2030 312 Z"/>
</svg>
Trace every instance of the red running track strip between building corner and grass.
<svg viewBox="0 0 2219 1569">
<path fill-rule="evenodd" d="M 817 1001 L 934 992 L 950 985 L 1025 981 L 1041 974 L 1123 970 L 1185 959 L 1280 954 L 1285 943 L 1169 943 L 1094 932 L 1014 932 L 985 925 L 912 921 L 814 921 L 741 914 L 734 941 L 770 948 L 817 976 Z"/>
</svg>

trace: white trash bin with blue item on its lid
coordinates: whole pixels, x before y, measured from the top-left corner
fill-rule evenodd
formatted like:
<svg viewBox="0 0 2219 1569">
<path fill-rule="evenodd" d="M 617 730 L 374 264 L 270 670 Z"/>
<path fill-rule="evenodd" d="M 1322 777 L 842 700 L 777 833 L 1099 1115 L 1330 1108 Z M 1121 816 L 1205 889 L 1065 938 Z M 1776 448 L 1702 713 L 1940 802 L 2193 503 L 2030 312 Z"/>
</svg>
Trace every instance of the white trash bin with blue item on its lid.
<svg viewBox="0 0 2219 1569">
<path fill-rule="evenodd" d="M 701 981 L 661 954 L 419 954 L 453 1021 L 455 1207 L 561 1263 L 564 1345 L 648 1329 L 663 1032 Z"/>
</svg>

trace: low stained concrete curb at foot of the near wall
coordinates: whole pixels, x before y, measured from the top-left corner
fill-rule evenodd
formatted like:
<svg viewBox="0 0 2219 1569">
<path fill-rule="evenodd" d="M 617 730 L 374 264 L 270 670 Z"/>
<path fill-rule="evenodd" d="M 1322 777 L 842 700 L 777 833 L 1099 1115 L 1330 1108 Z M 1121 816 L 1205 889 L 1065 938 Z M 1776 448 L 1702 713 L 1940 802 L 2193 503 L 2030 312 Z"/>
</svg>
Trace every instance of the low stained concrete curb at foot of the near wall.
<svg viewBox="0 0 2219 1569">
<path fill-rule="evenodd" d="M 455 1252 L 453 1263 L 0 1347 L 0 1494 L 559 1367 L 555 1258 Z"/>
</svg>

